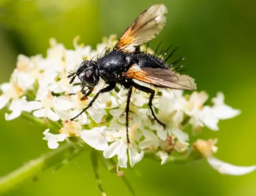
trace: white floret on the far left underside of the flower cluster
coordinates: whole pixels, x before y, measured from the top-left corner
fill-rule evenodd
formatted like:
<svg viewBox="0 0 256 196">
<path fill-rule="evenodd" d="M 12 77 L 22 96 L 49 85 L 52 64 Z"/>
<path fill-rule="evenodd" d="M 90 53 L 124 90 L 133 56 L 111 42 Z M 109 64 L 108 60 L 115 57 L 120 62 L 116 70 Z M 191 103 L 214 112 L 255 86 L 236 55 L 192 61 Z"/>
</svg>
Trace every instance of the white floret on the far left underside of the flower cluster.
<svg viewBox="0 0 256 196">
<path fill-rule="evenodd" d="M 32 102 L 27 102 L 26 97 L 22 97 L 21 99 L 16 99 L 13 100 L 12 103 L 10 103 L 9 110 L 12 111 L 11 114 L 5 113 L 5 120 L 10 121 L 15 119 L 16 117 L 19 117 L 21 115 L 22 111 L 27 111 L 31 112 L 33 110 L 38 110 L 40 109 L 41 103 L 32 101 Z"/>
</svg>

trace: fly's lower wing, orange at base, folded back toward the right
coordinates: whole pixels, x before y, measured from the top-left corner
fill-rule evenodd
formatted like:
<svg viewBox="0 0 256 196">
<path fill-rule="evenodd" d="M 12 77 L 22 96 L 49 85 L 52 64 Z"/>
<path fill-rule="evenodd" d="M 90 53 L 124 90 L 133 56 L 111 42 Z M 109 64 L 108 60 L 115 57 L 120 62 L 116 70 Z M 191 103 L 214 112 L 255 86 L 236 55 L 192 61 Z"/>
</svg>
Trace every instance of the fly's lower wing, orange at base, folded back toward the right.
<svg viewBox="0 0 256 196">
<path fill-rule="evenodd" d="M 127 72 L 123 73 L 127 79 L 136 79 L 152 85 L 171 89 L 196 89 L 194 79 L 188 75 L 180 75 L 176 72 L 162 68 L 140 68 L 137 64 L 132 65 Z"/>
</svg>

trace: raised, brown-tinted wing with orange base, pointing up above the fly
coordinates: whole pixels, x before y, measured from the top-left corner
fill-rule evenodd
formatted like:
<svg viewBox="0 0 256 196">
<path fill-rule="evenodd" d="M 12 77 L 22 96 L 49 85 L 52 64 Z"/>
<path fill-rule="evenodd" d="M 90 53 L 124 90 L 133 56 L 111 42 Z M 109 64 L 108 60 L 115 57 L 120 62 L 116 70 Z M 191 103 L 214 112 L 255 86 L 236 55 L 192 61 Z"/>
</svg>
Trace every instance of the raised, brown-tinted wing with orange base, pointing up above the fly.
<svg viewBox="0 0 256 196">
<path fill-rule="evenodd" d="M 167 8 L 163 4 L 151 5 L 144 10 L 132 25 L 126 29 L 126 32 L 119 39 L 115 46 L 116 50 L 133 52 L 135 46 L 148 42 L 159 34 L 166 23 L 165 14 Z"/>
</svg>

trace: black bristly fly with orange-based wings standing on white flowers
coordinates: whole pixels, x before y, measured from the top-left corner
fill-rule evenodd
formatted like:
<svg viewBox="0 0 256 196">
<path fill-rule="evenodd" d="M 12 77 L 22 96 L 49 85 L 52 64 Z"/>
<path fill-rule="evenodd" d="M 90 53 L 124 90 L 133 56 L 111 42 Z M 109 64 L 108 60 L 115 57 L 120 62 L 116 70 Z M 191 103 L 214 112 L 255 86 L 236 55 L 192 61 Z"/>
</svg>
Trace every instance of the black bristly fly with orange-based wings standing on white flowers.
<svg viewBox="0 0 256 196">
<path fill-rule="evenodd" d="M 162 88 L 196 89 L 194 79 L 188 75 L 180 75 L 177 72 L 171 71 L 169 68 L 172 65 L 167 65 L 166 60 L 162 60 L 162 58 L 155 57 L 155 55 L 148 54 L 147 52 L 140 51 L 140 44 L 152 40 L 155 38 L 155 35 L 160 33 L 163 29 L 166 23 L 166 13 L 168 13 L 168 10 L 163 4 L 152 5 L 144 10 L 144 12 L 133 21 L 132 25 L 126 29 L 112 51 L 108 51 L 104 57 L 99 58 L 98 60 L 83 61 L 76 72 L 68 75 L 68 77 L 71 78 L 70 83 L 73 83 L 74 79 L 79 77 L 82 91 L 86 92 L 81 98 L 82 100 L 87 99 L 87 96 L 91 94 L 100 78 L 107 84 L 105 88 L 102 88 L 96 93 L 88 106 L 77 114 L 77 116 L 73 117 L 71 121 L 90 108 L 99 94 L 112 91 L 116 84 L 119 84 L 128 89 L 125 109 L 128 143 L 128 119 L 132 88 L 150 94 L 148 106 L 152 116 L 154 116 L 155 121 L 165 126 L 157 119 L 152 107 L 152 100 L 155 95 L 154 89 L 142 86 L 136 83 L 136 81 L 139 80 Z M 168 57 L 170 56 L 171 54 Z M 84 91 L 84 88 L 88 88 L 87 91 Z"/>
</svg>

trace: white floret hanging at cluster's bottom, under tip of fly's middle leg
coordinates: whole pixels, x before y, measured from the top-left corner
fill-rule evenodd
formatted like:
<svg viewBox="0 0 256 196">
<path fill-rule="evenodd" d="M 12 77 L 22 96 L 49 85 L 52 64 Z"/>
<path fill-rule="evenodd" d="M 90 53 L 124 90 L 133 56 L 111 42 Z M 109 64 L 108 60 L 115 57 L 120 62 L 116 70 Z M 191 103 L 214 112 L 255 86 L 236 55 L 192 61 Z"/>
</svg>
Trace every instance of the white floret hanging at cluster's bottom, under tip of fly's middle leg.
<svg viewBox="0 0 256 196">
<path fill-rule="evenodd" d="M 129 139 L 130 143 L 127 143 L 126 129 L 123 128 L 119 130 L 119 138 L 115 138 L 114 142 L 104 150 L 103 155 L 105 158 L 112 158 L 113 156 L 118 156 L 118 166 L 127 167 L 127 151 L 130 159 L 130 166 L 133 167 L 136 163 L 141 161 L 144 156 L 144 152 L 138 153 L 137 145 L 135 144 L 135 129 L 137 125 L 133 125 L 129 128 Z"/>
</svg>

